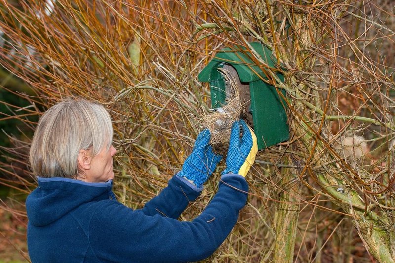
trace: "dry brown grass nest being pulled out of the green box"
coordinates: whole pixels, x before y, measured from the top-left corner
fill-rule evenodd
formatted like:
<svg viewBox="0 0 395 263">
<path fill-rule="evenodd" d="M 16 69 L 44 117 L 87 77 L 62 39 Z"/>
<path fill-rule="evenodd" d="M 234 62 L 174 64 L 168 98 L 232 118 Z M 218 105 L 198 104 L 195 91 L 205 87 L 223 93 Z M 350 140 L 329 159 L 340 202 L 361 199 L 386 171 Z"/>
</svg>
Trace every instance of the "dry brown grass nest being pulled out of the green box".
<svg viewBox="0 0 395 263">
<path fill-rule="evenodd" d="M 245 100 L 240 94 L 240 81 L 238 75 L 227 69 L 218 69 L 226 82 L 227 98 L 222 108 L 214 109 L 214 112 L 202 117 L 200 125 L 207 127 L 211 132 L 211 145 L 213 151 L 226 156 L 229 147 L 232 123 L 245 116 Z M 236 72 L 236 71 L 235 71 Z M 245 119 L 245 117 L 243 117 Z"/>
</svg>

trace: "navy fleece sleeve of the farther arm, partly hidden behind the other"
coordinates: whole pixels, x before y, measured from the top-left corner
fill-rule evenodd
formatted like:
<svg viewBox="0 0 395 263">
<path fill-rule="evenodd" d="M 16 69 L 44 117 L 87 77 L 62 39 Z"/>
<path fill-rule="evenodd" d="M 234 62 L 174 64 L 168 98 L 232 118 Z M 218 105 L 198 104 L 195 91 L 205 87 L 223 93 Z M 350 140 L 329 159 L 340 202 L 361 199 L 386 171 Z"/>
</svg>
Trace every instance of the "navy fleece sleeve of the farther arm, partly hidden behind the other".
<svg viewBox="0 0 395 263">
<path fill-rule="evenodd" d="M 203 188 L 197 188 L 185 178 L 173 176 L 166 188 L 148 201 L 141 209 L 147 216 L 161 215 L 178 219 L 190 201 L 197 198 Z M 137 210 L 138 211 L 138 210 Z"/>
</svg>

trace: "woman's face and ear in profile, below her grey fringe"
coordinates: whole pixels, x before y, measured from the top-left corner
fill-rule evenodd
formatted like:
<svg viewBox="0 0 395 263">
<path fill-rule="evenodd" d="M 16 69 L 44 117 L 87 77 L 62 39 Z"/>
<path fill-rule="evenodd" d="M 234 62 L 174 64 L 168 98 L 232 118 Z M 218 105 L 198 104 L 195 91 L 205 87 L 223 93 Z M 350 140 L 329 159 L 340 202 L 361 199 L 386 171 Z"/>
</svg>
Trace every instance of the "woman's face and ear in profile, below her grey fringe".
<svg viewBox="0 0 395 263">
<path fill-rule="evenodd" d="M 90 169 L 85 170 L 86 182 L 106 182 L 114 178 L 113 156 L 116 149 L 113 145 L 107 150 L 103 147 L 100 152 L 91 159 Z"/>
</svg>

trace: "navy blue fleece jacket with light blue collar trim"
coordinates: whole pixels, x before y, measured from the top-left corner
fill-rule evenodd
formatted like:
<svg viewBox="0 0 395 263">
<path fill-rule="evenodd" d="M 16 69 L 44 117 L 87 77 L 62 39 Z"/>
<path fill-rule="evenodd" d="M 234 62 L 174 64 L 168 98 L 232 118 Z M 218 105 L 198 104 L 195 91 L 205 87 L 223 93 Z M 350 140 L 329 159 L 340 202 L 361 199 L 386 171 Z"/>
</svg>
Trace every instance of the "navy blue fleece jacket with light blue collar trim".
<svg viewBox="0 0 395 263">
<path fill-rule="evenodd" d="M 237 222 L 248 185 L 236 174 L 192 221 L 178 221 L 202 188 L 173 176 L 162 192 L 132 210 L 114 200 L 112 181 L 39 178 L 26 200 L 33 263 L 192 262 L 210 256 Z"/>
</svg>

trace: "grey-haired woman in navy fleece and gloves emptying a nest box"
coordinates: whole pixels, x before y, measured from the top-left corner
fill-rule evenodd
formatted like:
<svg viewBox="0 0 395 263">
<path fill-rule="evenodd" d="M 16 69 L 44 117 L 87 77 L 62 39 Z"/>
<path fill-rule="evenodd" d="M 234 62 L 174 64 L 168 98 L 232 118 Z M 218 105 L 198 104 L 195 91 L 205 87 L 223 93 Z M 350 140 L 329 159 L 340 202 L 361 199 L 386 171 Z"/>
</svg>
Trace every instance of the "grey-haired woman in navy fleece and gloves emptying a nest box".
<svg viewBox="0 0 395 263">
<path fill-rule="evenodd" d="M 210 256 L 247 200 L 244 177 L 257 145 L 245 122 L 233 124 L 218 192 L 191 222 L 177 218 L 221 159 L 209 145 L 210 132 L 199 134 L 182 170 L 139 210 L 119 203 L 111 191 L 112 137 L 106 109 L 84 99 L 68 98 L 40 118 L 30 150 L 39 186 L 26 200 L 32 262 L 191 262 Z"/>
</svg>

